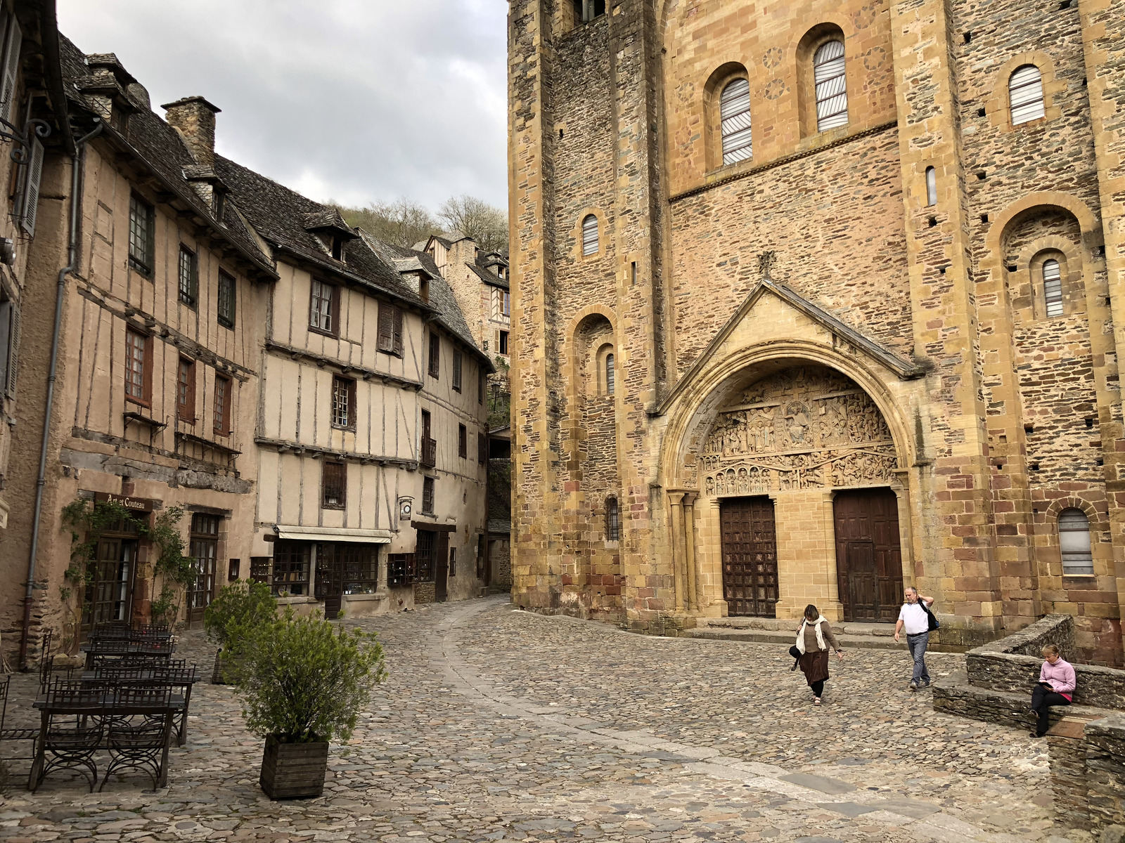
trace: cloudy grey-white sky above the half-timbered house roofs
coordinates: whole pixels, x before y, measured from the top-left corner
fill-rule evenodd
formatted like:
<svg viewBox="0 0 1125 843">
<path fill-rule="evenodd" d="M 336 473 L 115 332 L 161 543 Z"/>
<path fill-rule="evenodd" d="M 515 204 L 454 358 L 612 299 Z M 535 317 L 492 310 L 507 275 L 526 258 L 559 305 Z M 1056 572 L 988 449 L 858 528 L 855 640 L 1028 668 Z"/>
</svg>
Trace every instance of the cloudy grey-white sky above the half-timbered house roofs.
<svg viewBox="0 0 1125 843">
<path fill-rule="evenodd" d="M 506 0 L 58 0 L 153 107 L 201 94 L 216 148 L 345 205 L 506 207 Z"/>
</svg>

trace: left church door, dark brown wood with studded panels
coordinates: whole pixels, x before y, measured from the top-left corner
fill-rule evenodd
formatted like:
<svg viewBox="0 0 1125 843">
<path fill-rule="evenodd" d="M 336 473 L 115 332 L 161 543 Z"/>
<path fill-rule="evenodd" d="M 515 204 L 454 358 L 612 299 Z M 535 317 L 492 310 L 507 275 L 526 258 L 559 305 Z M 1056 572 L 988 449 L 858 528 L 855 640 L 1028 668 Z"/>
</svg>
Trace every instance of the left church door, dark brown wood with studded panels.
<svg viewBox="0 0 1125 843">
<path fill-rule="evenodd" d="M 722 596 L 728 615 L 776 617 L 777 533 L 770 498 L 727 498 L 719 505 Z"/>
</svg>

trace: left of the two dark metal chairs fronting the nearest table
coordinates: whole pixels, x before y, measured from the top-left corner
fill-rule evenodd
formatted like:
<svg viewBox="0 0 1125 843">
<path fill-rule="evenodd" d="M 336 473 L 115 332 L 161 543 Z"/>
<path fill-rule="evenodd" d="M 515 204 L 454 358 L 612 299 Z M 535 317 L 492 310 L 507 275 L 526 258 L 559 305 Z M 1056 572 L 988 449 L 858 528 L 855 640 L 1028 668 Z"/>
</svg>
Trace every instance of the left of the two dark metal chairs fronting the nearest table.
<svg viewBox="0 0 1125 843">
<path fill-rule="evenodd" d="M 32 768 L 32 791 L 38 789 L 47 773 L 76 770 L 90 783 L 98 783 L 98 765 L 93 756 L 101 745 L 107 697 L 105 685 L 82 680 L 56 679 L 47 689 L 44 701 L 45 729 L 38 747 L 38 774 Z M 73 725 L 69 725 L 73 716 Z M 50 755 L 50 759 L 47 758 Z"/>
</svg>

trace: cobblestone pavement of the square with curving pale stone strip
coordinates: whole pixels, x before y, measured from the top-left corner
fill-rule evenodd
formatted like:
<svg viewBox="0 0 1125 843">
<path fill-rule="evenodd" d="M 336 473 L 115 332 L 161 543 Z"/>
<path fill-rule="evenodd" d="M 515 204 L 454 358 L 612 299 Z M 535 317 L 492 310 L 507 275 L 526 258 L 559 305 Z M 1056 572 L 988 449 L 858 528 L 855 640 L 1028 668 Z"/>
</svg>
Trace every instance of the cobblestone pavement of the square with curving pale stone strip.
<svg viewBox="0 0 1125 843">
<path fill-rule="evenodd" d="M 774 645 L 638 636 L 503 598 L 345 623 L 380 633 L 390 677 L 333 746 L 323 798 L 266 799 L 262 742 L 228 688 L 200 683 L 169 787 L 16 780 L 0 839 L 1089 841 L 1052 825 L 1045 745 L 935 714 L 907 691 L 904 650 L 847 652 L 817 708 Z M 214 654 L 196 632 L 180 652 Z M 935 677 L 962 661 L 928 659 Z M 8 725 L 35 720 L 34 682 L 15 678 Z"/>
</svg>

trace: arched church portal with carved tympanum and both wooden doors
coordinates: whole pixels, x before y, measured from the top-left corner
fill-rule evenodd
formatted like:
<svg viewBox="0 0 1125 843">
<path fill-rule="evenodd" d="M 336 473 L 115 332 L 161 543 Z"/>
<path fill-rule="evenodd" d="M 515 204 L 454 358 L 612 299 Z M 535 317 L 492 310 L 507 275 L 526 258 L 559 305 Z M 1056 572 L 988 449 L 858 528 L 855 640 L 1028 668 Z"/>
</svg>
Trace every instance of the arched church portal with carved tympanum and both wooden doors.
<svg viewBox="0 0 1125 843">
<path fill-rule="evenodd" d="M 700 613 L 893 620 L 909 510 L 874 400 L 792 360 L 726 386 L 696 457 Z"/>
</svg>

